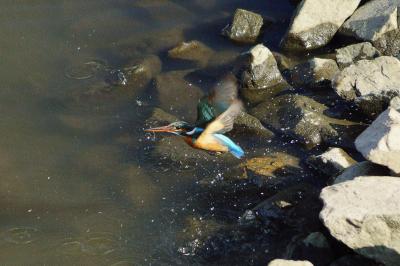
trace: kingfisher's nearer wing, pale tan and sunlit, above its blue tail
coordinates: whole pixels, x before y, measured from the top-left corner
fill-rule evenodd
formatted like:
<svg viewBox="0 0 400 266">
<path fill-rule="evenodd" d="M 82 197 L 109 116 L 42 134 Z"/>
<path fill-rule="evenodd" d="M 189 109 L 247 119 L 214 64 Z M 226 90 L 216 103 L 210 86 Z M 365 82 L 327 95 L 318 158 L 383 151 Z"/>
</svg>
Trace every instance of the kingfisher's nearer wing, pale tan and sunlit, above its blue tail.
<svg viewBox="0 0 400 266">
<path fill-rule="evenodd" d="M 235 118 L 243 110 L 243 104 L 240 100 L 234 100 L 231 106 L 218 116 L 213 122 L 208 124 L 204 132 L 200 135 L 211 135 L 211 134 L 223 134 L 225 132 L 231 131 L 233 128 L 233 122 Z"/>
</svg>

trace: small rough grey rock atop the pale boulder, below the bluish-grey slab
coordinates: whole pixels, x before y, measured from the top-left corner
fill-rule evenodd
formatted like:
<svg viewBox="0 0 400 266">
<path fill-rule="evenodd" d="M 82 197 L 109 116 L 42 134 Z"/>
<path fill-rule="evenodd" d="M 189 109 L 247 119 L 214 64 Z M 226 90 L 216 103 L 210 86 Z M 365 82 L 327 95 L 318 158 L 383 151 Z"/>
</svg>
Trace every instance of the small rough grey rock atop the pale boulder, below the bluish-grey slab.
<svg viewBox="0 0 400 266">
<path fill-rule="evenodd" d="M 364 60 L 374 59 L 379 56 L 379 51 L 369 42 L 356 43 L 340 49 L 336 49 L 336 62 L 340 69 Z"/>
</svg>

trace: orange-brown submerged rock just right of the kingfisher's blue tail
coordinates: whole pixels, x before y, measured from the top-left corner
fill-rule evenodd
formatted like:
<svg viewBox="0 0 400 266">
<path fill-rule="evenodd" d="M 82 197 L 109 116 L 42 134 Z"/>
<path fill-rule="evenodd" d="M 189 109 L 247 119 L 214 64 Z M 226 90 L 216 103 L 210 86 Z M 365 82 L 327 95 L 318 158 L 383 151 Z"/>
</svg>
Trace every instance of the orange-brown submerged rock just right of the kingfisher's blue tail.
<svg viewBox="0 0 400 266">
<path fill-rule="evenodd" d="M 254 157 L 240 164 L 243 177 L 257 186 L 290 185 L 299 179 L 302 169 L 297 157 L 277 152 L 269 156 Z"/>
</svg>

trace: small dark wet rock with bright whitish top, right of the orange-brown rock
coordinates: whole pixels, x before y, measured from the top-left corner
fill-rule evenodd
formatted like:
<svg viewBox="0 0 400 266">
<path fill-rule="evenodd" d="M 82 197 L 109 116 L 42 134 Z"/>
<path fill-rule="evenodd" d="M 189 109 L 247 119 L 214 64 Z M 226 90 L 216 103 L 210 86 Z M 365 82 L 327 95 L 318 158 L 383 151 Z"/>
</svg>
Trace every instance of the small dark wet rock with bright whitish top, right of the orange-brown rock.
<svg viewBox="0 0 400 266">
<path fill-rule="evenodd" d="M 329 148 L 318 156 L 311 156 L 307 160 L 313 168 L 328 176 L 334 176 L 352 166 L 356 161 L 341 148 Z"/>
</svg>

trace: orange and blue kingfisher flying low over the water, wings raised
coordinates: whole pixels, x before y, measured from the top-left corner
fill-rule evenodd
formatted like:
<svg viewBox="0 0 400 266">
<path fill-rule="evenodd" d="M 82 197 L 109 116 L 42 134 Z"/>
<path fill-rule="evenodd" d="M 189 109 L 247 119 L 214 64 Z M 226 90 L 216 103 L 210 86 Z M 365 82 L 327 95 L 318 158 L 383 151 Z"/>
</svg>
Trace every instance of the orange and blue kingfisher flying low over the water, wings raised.
<svg viewBox="0 0 400 266">
<path fill-rule="evenodd" d="M 233 128 L 235 118 L 242 112 L 243 103 L 238 99 L 237 79 L 233 74 L 225 75 L 210 93 L 197 105 L 197 120 L 194 125 L 185 121 L 167 126 L 145 129 L 146 132 L 167 132 L 183 137 L 196 149 L 213 152 L 230 152 L 240 159 L 244 151 L 224 135 Z"/>
</svg>

